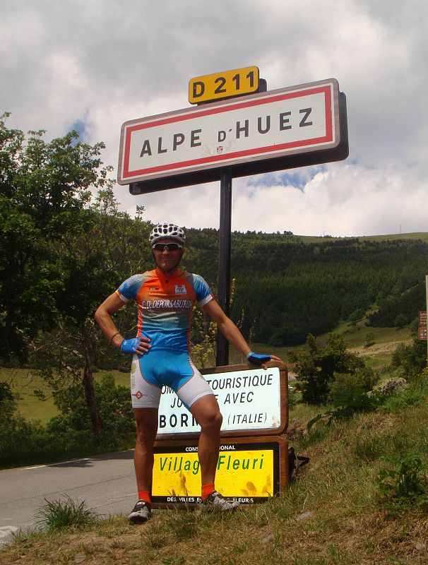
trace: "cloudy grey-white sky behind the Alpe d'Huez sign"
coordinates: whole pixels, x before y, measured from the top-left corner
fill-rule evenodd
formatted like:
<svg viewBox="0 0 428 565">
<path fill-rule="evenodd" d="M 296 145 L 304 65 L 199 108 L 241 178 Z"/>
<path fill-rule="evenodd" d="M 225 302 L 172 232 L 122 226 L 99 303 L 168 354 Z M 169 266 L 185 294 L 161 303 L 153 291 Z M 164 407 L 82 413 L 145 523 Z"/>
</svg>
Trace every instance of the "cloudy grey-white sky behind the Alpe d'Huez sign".
<svg viewBox="0 0 428 565">
<path fill-rule="evenodd" d="M 8 126 L 77 128 L 117 172 L 121 124 L 189 107 L 189 79 L 258 66 L 268 90 L 336 78 L 347 160 L 233 180 L 232 229 L 427 232 L 427 0 L 1 0 Z M 145 219 L 218 227 L 220 183 L 131 196 Z"/>
</svg>

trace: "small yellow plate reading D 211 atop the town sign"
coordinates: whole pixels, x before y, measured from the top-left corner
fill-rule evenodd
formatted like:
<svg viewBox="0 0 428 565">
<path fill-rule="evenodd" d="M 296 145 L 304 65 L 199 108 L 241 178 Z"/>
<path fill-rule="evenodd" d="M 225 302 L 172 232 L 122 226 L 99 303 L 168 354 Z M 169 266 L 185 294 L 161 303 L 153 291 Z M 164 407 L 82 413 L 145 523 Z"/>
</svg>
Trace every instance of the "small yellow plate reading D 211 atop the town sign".
<svg viewBox="0 0 428 565">
<path fill-rule="evenodd" d="M 189 102 L 208 102 L 232 96 L 255 93 L 258 90 L 258 67 L 197 76 L 189 81 Z"/>
</svg>

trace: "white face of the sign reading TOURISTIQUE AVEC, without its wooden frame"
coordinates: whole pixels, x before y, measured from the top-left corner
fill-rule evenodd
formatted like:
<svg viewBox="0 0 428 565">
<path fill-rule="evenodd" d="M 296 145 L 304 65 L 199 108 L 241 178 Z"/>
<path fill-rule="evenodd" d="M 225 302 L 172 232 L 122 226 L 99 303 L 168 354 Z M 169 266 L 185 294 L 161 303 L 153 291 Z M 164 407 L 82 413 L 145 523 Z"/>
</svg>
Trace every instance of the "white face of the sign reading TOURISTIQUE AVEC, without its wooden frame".
<svg viewBox="0 0 428 565">
<path fill-rule="evenodd" d="M 249 369 L 204 375 L 220 405 L 222 432 L 280 427 L 280 369 Z M 162 388 L 157 435 L 200 432 L 194 417 L 170 388 Z"/>
</svg>

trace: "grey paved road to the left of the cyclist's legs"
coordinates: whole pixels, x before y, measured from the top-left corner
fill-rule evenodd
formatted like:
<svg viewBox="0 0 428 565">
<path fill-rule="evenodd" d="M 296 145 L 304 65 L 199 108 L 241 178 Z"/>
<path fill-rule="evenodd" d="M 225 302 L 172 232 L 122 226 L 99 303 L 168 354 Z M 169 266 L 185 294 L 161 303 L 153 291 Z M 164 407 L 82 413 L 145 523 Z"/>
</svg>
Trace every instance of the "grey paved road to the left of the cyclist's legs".
<svg viewBox="0 0 428 565">
<path fill-rule="evenodd" d="M 37 511 L 70 496 L 98 514 L 128 513 L 136 501 L 133 450 L 0 471 L 0 546 L 37 528 Z"/>
</svg>

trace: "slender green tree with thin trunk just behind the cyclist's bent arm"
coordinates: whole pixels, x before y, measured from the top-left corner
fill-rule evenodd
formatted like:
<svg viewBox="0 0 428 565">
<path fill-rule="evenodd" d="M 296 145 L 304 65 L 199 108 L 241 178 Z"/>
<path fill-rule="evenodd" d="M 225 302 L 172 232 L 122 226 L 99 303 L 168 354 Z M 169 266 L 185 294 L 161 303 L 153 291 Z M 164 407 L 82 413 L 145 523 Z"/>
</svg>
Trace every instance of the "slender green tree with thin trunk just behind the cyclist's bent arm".
<svg viewBox="0 0 428 565">
<path fill-rule="evenodd" d="M 111 187 L 81 210 L 73 231 L 57 246 L 61 287 L 55 294 L 57 327 L 39 333 L 32 341 L 40 373 L 56 398 L 64 388 L 82 388 L 93 432 L 105 432 L 94 385 L 94 367 L 110 369 L 129 364 L 107 343 L 94 321 L 100 303 L 122 280 L 146 270 L 150 226 L 119 211 Z M 136 335 L 135 315 L 129 309 L 117 314 L 121 332 Z"/>
</svg>

